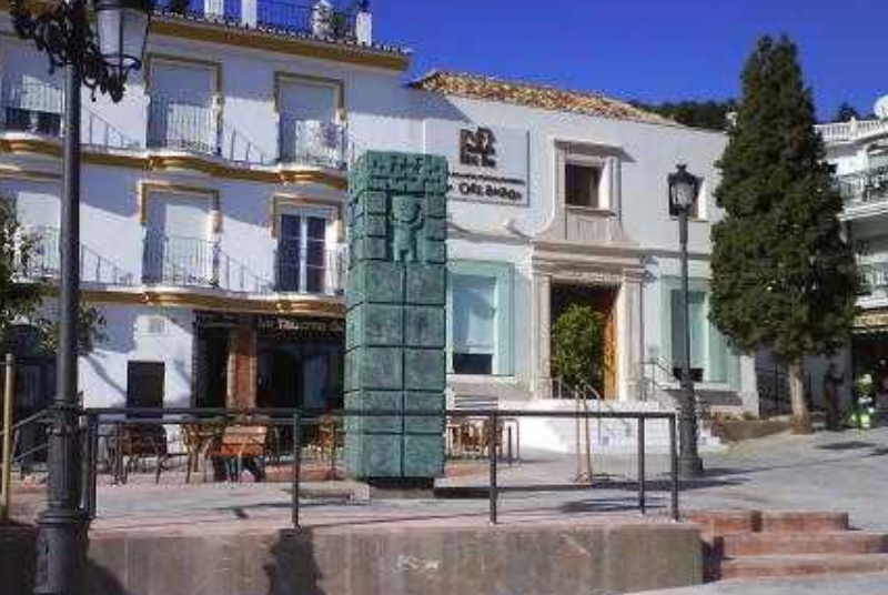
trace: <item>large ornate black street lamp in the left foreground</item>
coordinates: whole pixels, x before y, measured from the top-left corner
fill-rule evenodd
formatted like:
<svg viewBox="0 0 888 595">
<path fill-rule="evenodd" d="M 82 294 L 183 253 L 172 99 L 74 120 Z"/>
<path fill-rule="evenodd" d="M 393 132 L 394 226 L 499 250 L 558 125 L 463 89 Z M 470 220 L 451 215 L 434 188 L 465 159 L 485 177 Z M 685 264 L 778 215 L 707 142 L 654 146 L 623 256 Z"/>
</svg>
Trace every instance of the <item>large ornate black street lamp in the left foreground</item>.
<svg viewBox="0 0 888 595">
<path fill-rule="evenodd" d="M 94 0 L 97 31 L 87 0 L 52 7 L 11 0 L 20 38 L 32 40 L 49 58 L 50 72 L 65 68 L 63 182 L 61 196 L 61 279 L 57 393 L 49 433 L 47 510 L 38 518 L 34 593 L 74 595 L 87 551 L 89 517 L 81 507 L 80 402 L 77 387 L 77 324 L 80 303 L 80 93 L 123 98 L 128 74 L 142 65 L 152 0 Z M 33 10 L 33 12 L 31 11 Z"/>
</svg>

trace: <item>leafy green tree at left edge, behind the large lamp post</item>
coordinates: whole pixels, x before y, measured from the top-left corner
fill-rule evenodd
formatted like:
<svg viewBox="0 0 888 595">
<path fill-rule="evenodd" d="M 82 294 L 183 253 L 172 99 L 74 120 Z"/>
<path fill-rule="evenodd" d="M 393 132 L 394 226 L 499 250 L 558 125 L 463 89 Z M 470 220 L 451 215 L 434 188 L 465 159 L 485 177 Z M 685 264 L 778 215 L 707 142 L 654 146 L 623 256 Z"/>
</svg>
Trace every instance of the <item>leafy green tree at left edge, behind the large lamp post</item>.
<svg viewBox="0 0 888 595">
<path fill-rule="evenodd" d="M 43 304 L 41 288 L 22 281 L 17 271 L 33 258 L 33 240 L 16 219 L 14 204 L 0 199 L 0 346 L 8 345 L 17 325 L 27 324 L 40 333 L 40 350 L 54 353 L 58 343 L 58 315 L 51 304 Z M 90 306 L 78 313 L 78 349 L 90 353 L 105 340 L 105 320 Z"/>
</svg>

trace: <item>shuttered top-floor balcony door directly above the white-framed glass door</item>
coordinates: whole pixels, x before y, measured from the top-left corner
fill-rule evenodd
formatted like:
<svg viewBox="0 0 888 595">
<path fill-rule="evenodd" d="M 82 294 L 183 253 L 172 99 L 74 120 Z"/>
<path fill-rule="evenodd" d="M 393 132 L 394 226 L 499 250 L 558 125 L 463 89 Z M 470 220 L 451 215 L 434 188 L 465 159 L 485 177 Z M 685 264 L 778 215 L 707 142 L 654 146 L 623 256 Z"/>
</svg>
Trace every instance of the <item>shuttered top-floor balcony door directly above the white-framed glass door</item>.
<svg viewBox="0 0 888 595">
<path fill-rule="evenodd" d="M 344 159 L 337 112 L 341 87 L 311 79 L 283 79 L 278 90 L 281 161 L 339 168 Z"/>
</svg>

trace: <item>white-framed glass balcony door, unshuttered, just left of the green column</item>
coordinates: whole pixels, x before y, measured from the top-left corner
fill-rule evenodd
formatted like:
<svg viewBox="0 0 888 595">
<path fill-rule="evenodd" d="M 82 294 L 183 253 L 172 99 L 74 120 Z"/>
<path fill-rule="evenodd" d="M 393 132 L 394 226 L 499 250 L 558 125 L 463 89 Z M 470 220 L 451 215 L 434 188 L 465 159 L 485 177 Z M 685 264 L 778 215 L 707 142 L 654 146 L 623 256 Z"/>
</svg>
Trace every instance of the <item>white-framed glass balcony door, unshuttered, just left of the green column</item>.
<svg viewBox="0 0 888 595">
<path fill-rule="evenodd" d="M 281 215 L 278 291 L 326 293 L 326 224 L 320 214 Z"/>
</svg>

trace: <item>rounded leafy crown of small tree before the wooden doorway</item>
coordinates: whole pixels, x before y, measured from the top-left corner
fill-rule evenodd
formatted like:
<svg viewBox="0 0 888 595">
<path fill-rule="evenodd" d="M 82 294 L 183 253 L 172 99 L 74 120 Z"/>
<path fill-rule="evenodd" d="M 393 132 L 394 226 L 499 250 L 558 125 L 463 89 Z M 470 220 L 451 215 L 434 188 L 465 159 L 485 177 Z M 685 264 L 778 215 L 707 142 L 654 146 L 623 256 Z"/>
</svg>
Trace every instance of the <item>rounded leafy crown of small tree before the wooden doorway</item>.
<svg viewBox="0 0 888 595">
<path fill-rule="evenodd" d="M 571 386 L 604 384 L 604 314 L 572 304 L 555 321 L 552 332 L 552 371 Z"/>
</svg>

